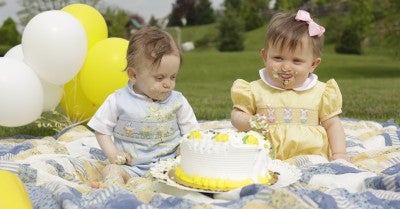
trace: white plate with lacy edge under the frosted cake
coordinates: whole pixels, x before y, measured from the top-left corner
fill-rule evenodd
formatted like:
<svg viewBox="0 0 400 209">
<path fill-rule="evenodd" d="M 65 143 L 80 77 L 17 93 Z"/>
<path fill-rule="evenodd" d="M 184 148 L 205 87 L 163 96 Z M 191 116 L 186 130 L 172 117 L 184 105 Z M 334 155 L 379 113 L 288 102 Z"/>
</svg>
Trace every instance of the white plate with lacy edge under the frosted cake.
<svg viewBox="0 0 400 209">
<path fill-rule="evenodd" d="M 158 181 L 178 189 L 186 191 L 194 191 L 194 192 L 203 192 L 203 193 L 225 192 L 225 191 L 196 189 L 179 184 L 175 180 L 173 173 L 175 168 L 178 166 L 179 162 L 180 162 L 179 157 L 176 159 L 170 158 L 167 160 L 159 161 L 150 169 L 150 173 Z M 299 180 L 301 177 L 301 171 L 299 169 L 281 160 L 272 160 L 269 166 L 269 170 L 279 173 L 278 181 L 275 184 L 270 185 L 271 188 L 289 186 L 290 184 Z"/>
</svg>

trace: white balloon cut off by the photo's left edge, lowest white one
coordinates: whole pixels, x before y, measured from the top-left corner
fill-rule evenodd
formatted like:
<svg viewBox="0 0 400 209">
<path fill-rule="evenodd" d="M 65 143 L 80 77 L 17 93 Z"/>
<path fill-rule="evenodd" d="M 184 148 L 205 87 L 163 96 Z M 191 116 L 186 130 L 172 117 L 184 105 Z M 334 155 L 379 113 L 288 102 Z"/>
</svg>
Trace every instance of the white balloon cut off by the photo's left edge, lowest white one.
<svg viewBox="0 0 400 209">
<path fill-rule="evenodd" d="M 0 57 L 0 98 L 0 126 L 26 125 L 42 114 L 42 84 L 35 72 L 19 60 Z"/>
</svg>

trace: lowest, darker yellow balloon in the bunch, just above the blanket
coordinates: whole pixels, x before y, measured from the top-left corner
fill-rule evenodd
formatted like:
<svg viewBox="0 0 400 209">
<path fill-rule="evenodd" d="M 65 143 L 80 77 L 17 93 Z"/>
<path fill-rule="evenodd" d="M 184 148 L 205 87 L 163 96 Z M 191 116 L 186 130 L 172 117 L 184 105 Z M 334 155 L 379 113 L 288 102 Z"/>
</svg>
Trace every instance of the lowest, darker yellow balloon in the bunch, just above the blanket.
<svg viewBox="0 0 400 209">
<path fill-rule="evenodd" d="M 99 106 L 91 102 L 83 93 L 79 74 L 64 85 L 60 106 L 71 121 L 81 122 L 91 118 Z"/>
</svg>

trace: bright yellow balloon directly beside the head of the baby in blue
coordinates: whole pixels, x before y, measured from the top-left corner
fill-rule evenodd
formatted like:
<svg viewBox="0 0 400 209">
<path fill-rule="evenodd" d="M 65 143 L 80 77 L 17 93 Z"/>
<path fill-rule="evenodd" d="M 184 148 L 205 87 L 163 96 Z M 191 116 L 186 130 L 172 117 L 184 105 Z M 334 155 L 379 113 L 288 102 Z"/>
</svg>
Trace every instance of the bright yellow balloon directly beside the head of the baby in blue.
<svg viewBox="0 0 400 209">
<path fill-rule="evenodd" d="M 128 41 L 122 38 L 107 38 L 89 49 L 78 75 L 83 92 L 95 105 L 127 84 L 127 49 Z"/>
</svg>

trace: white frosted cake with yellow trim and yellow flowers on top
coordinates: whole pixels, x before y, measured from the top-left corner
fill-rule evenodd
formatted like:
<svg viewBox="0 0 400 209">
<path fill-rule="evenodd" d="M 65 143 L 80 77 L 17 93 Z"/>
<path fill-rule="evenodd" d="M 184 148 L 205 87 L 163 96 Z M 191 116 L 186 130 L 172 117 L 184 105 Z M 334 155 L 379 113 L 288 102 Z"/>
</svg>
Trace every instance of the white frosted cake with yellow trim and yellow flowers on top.
<svg viewBox="0 0 400 209">
<path fill-rule="evenodd" d="M 193 131 L 183 136 L 175 170 L 185 186 L 227 191 L 253 183 L 271 184 L 271 145 L 258 132 Z"/>
</svg>

